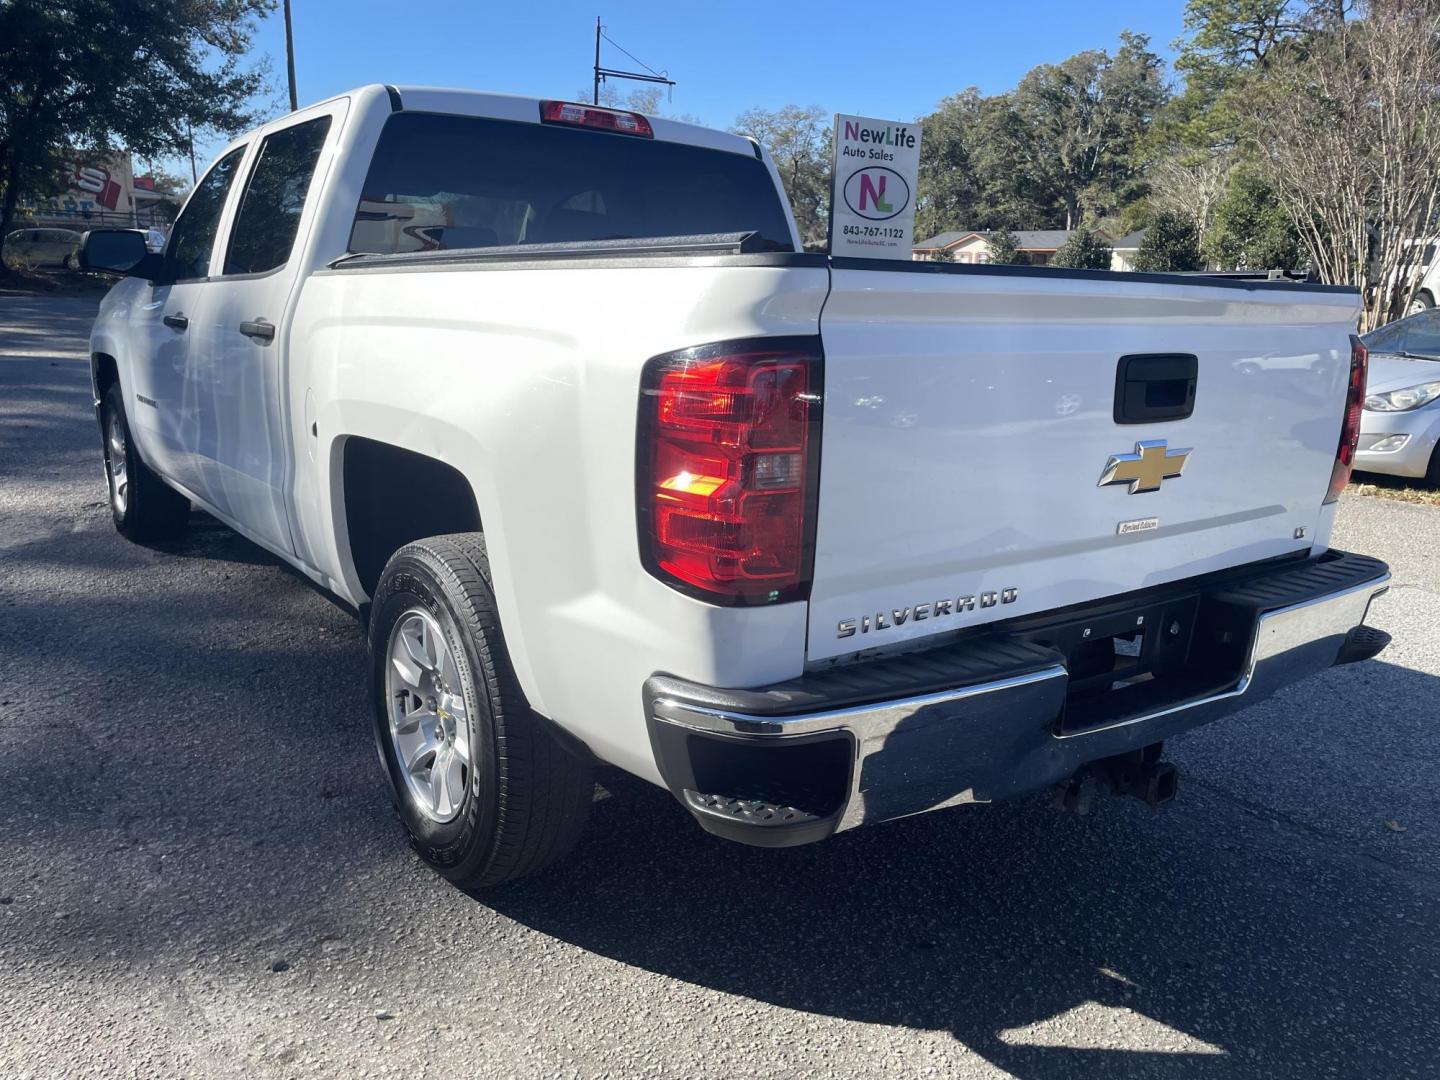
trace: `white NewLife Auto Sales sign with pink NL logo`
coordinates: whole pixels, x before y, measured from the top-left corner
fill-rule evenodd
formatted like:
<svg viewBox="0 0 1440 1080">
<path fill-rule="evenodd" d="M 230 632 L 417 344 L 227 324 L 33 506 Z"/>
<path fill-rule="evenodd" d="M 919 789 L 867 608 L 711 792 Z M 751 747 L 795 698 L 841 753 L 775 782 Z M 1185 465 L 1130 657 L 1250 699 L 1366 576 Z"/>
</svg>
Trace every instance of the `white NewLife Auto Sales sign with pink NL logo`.
<svg viewBox="0 0 1440 1080">
<path fill-rule="evenodd" d="M 919 173 L 919 124 L 837 115 L 829 253 L 909 259 Z"/>
</svg>

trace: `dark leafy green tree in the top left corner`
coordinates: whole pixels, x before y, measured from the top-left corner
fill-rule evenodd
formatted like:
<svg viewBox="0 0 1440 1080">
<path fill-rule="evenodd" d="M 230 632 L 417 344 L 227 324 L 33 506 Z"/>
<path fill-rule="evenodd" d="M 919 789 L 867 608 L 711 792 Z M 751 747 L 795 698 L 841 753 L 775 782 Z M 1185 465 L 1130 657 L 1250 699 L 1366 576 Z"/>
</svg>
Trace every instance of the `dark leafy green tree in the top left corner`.
<svg viewBox="0 0 1440 1080">
<path fill-rule="evenodd" d="M 253 122 L 248 63 L 274 0 L 0 0 L 0 235 L 22 192 L 76 153 L 184 153 L 194 132 Z"/>
</svg>

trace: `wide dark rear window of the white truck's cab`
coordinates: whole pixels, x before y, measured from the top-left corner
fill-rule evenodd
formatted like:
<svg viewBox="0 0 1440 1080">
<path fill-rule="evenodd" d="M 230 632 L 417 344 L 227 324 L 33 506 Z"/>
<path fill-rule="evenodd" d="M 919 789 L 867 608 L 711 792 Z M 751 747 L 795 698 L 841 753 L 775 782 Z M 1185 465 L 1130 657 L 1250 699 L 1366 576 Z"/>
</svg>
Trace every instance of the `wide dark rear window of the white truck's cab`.
<svg viewBox="0 0 1440 1080">
<path fill-rule="evenodd" d="M 380 134 L 351 252 L 756 232 L 793 251 L 753 154 L 609 131 L 397 112 Z"/>
</svg>

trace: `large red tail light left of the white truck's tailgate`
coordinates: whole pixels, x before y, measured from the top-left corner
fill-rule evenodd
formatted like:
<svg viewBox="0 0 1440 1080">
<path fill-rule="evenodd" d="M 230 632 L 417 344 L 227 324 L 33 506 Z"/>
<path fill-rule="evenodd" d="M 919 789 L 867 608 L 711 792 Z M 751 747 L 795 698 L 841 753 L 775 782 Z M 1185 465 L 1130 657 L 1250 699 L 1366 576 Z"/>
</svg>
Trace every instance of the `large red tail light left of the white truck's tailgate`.
<svg viewBox="0 0 1440 1080">
<path fill-rule="evenodd" d="M 819 420 L 812 338 L 732 341 L 651 360 L 636 492 L 645 567 L 711 603 L 808 596 Z"/>
</svg>

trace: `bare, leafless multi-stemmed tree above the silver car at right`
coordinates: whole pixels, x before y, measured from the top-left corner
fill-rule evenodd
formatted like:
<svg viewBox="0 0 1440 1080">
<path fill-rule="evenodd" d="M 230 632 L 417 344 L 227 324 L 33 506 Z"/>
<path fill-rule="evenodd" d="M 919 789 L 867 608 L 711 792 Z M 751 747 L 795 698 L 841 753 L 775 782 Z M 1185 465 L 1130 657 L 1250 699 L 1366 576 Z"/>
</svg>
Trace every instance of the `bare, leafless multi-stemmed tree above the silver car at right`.
<svg viewBox="0 0 1440 1080">
<path fill-rule="evenodd" d="M 1359 285 L 1362 330 L 1404 312 L 1440 210 L 1440 0 L 1368 0 L 1270 56 L 1241 98 L 1269 180 L 1322 279 Z"/>
</svg>

